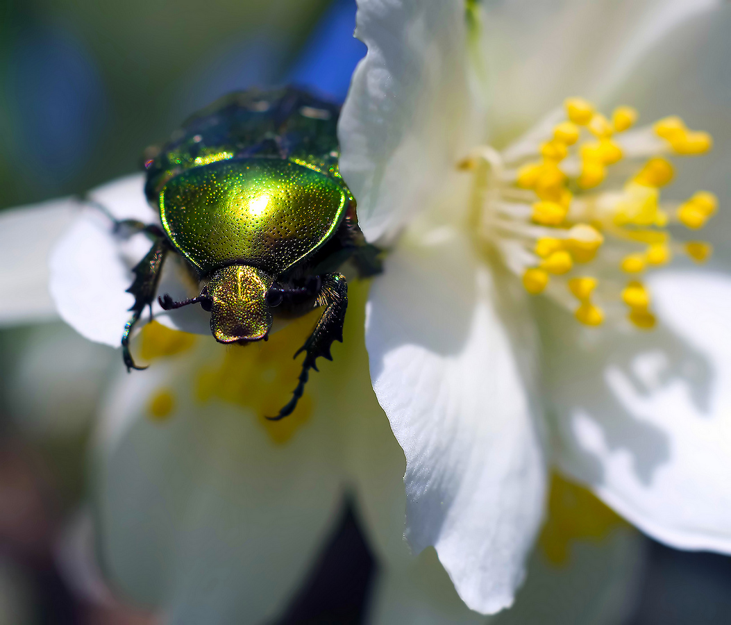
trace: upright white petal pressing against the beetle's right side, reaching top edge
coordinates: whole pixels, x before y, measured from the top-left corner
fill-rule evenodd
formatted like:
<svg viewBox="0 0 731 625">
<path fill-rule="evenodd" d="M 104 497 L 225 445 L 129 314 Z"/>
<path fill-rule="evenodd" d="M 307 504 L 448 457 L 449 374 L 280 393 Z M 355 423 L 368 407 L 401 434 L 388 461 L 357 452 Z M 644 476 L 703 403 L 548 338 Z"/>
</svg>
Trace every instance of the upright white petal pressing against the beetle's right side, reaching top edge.
<svg viewBox="0 0 731 625">
<path fill-rule="evenodd" d="M 428 208 L 445 175 L 482 139 L 461 2 L 362 0 L 368 53 L 339 122 L 340 170 L 368 240 Z"/>
</svg>

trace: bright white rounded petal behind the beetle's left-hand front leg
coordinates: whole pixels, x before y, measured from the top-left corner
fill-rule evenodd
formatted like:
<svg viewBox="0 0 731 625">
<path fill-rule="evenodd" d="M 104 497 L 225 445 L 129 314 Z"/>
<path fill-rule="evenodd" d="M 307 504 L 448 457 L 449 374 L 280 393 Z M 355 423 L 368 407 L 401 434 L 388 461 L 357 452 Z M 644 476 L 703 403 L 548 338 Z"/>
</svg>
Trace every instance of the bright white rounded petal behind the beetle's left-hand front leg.
<svg viewBox="0 0 731 625">
<path fill-rule="evenodd" d="M 115 219 L 138 219 L 156 223 L 159 217 L 148 207 L 143 194 L 143 176 L 122 178 L 91 192 L 96 202 Z M 97 208 L 87 207 L 58 240 L 50 259 L 50 292 L 58 313 L 82 336 L 118 346 L 129 308 L 135 298 L 126 292 L 132 284 L 132 267 L 151 247 L 137 234 L 123 240 L 113 235 L 112 222 Z M 197 283 L 183 261 L 169 254 L 162 270 L 159 292 L 184 299 L 197 295 Z M 163 311 L 154 303 L 155 319 L 186 332 L 210 333 L 208 314 L 200 306 Z M 142 322 L 148 319 L 145 313 Z M 140 323 L 140 325 L 141 325 Z"/>
</svg>

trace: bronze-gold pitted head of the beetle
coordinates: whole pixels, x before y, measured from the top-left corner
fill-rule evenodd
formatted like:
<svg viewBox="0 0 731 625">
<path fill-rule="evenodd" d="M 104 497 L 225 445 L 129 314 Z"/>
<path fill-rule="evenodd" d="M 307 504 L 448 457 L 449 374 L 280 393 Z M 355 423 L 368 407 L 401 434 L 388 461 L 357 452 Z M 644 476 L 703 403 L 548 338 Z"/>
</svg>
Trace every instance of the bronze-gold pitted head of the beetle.
<svg viewBox="0 0 731 625">
<path fill-rule="evenodd" d="M 213 272 L 206 290 L 211 305 L 211 332 L 220 343 L 259 341 L 272 325 L 266 300 L 273 277 L 247 265 Z"/>
</svg>

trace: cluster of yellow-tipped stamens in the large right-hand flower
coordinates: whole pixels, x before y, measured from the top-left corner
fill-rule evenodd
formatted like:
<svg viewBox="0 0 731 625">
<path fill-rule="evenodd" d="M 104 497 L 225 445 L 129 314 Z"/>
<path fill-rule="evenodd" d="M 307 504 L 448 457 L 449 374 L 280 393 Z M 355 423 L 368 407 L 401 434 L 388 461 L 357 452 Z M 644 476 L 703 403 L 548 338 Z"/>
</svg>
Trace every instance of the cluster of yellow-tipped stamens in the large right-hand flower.
<svg viewBox="0 0 731 625">
<path fill-rule="evenodd" d="M 626 317 L 651 328 L 647 270 L 675 254 L 705 262 L 711 244 L 681 242 L 716 212 L 700 191 L 684 202 L 662 200 L 675 177 L 669 155 L 711 149 L 711 135 L 667 117 L 633 129 L 637 112 L 618 107 L 611 119 L 579 98 L 504 151 L 479 148 L 460 163 L 474 172 L 477 238 L 531 294 L 548 295 L 578 321 L 601 325 Z"/>
</svg>

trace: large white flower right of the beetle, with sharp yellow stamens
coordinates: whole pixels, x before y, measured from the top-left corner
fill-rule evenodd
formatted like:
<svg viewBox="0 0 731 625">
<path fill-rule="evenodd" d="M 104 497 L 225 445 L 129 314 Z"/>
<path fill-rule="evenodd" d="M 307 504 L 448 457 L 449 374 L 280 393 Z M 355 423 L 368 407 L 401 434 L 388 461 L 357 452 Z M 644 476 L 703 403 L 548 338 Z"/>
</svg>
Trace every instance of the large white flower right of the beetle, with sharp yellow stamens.
<svg viewBox="0 0 731 625">
<path fill-rule="evenodd" d="M 473 610 L 512 603 L 549 466 L 657 539 L 731 553 L 730 13 L 359 2 L 341 172 L 393 247 L 371 378 L 406 453 L 406 537 Z M 675 160 L 711 143 L 675 113 L 710 155 Z M 705 240 L 679 242 L 716 208 L 698 189 L 721 207 L 705 267 Z"/>
</svg>

